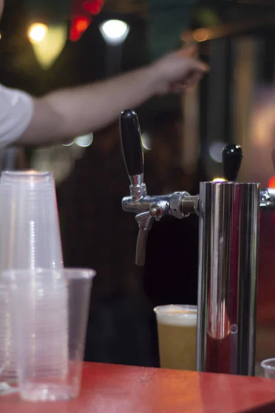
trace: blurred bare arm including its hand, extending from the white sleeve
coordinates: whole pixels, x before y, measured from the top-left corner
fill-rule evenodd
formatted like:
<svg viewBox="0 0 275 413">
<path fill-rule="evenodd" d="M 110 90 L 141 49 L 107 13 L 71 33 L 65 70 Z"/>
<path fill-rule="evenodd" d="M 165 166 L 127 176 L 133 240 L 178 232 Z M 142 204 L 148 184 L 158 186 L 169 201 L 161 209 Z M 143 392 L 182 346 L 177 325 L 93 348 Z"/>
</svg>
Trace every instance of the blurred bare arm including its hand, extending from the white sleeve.
<svg viewBox="0 0 275 413">
<path fill-rule="evenodd" d="M 45 145 L 67 142 L 96 131 L 156 94 L 179 92 L 206 72 L 193 52 L 174 52 L 156 63 L 107 81 L 59 90 L 34 98 L 34 113 L 17 142 Z"/>
</svg>

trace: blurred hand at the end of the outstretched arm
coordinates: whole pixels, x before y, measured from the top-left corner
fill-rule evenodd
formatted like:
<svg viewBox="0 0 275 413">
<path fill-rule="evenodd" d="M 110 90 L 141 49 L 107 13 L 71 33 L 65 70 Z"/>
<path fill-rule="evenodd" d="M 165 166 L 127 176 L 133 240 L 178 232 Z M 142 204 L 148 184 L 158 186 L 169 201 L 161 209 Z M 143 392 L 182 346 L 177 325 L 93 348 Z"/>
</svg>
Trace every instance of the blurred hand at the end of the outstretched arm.
<svg viewBox="0 0 275 413">
<path fill-rule="evenodd" d="M 167 54 L 151 65 L 157 94 L 182 92 L 201 80 L 209 68 L 206 63 L 196 59 L 195 54 L 197 47 L 190 45 Z"/>
</svg>

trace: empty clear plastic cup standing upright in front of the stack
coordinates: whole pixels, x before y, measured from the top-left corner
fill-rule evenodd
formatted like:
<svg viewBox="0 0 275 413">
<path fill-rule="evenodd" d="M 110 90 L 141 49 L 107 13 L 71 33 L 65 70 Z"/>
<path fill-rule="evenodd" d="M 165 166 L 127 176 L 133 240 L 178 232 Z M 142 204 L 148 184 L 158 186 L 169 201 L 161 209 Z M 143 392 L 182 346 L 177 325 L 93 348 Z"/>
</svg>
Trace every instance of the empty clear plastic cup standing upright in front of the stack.
<svg viewBox="0 0 275 413">
<path fill-rule="evenodd" d="M 57 401 L 78 396 L 95 274 L 74 268 L 3 273 L 9 286 L 23 399 Z"/>
</svg>

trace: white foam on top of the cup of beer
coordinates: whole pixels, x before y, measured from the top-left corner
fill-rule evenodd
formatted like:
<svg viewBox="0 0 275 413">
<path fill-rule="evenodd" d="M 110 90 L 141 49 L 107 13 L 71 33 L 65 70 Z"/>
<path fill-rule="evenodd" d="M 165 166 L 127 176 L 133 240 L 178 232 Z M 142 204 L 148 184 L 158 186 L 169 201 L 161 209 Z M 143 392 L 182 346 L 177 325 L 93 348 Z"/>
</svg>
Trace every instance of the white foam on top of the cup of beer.
<svg viewBox="0 0 275 413">
<path fill-rule="evenodd" d="M 169 305 L 154 308 L 157 322 L 171 326 L 197 326 L 197 307 Z"/>
</svg>

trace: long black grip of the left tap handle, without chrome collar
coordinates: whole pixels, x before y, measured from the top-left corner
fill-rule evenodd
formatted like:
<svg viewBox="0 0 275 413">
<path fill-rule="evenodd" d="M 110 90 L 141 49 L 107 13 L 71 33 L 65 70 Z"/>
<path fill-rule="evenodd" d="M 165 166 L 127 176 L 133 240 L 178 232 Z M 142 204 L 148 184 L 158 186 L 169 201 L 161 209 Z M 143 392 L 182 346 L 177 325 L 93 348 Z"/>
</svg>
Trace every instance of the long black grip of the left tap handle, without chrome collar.
<svg viewBox="0 0 275 413">
<path fill-rule="evenodd" d="M 120 138 L 128 175 L 141 175 L 144 172 L 142 138 L 140 123 L 133 110 L 124 110 L 120 115 Z"/>
</svg>

